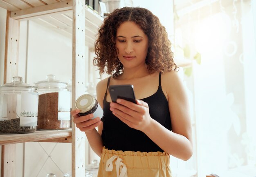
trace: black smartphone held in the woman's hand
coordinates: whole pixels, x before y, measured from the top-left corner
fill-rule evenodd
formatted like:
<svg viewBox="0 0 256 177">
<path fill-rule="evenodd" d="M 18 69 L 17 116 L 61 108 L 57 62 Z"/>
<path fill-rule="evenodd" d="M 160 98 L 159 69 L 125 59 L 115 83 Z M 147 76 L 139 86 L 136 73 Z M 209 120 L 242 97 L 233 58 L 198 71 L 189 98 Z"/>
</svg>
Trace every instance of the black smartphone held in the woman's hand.
<svg viewBox="0 0 256 177">
<path fill-rule="evenodd" d="M 121 98 L 136 103 L 133 85 L 110 85 L 108 88 L 112 102 L 117 102 L 117 98 Z"/>
</svg>

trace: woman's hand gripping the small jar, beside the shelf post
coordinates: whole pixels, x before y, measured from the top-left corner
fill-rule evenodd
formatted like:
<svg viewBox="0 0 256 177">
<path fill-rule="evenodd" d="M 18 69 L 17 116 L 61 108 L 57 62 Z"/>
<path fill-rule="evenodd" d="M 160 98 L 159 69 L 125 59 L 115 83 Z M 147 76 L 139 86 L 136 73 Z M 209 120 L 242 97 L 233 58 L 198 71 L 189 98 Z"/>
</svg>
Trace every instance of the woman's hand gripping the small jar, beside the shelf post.
<svg viewBox="0 0 256 177">
<path fill-rule="evenodd" d="M 79 109 L 74 109 L 71 111 L 71 115 L 74 117 L 73 122 L 76 124 L 76 127 L 83 132 L 91 132 L 101 124 L 99 117 L 93 118 L 93 114 L 88 114 L 84 116 L 79 116 Z"/>
</svg>

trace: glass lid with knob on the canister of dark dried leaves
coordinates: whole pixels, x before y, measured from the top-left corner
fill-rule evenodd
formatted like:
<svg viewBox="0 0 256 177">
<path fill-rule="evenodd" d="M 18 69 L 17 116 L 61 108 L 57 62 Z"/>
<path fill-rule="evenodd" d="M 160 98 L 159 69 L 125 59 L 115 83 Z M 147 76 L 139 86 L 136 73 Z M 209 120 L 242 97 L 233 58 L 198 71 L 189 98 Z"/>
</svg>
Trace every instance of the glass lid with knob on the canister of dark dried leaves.
<svg viewBox="0 0 256 177">
<path fill-rule="evenodd" d="M 35 86 L 23 83 L 20 76 L 12 77 L 12 82 L 0 85 L 0 91 L 36 91 Z"/>
</svg>

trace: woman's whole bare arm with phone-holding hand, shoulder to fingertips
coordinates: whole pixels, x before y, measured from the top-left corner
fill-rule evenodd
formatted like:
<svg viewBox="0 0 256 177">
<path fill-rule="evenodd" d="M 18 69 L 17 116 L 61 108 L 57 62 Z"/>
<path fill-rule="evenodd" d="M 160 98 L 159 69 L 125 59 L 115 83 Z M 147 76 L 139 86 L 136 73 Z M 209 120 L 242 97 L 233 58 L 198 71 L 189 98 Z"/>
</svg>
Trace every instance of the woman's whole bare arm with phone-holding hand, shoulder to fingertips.
<svg viewBox="0 0 256 177">
<path fill-rule="evenodd" d="M 189 104 L 182 81 L 175 71 L 162 75 L 162 88 L 168 98 L 172 131 L 152 119 L 148 104 L 141 100 L 137 100 L 136 105 L 119 99 L 119 104 L 111 103 L 110 110 L 131 128 L 144 132 L 166 153 L 188 160 L 193 154 Z"/>
</svg>

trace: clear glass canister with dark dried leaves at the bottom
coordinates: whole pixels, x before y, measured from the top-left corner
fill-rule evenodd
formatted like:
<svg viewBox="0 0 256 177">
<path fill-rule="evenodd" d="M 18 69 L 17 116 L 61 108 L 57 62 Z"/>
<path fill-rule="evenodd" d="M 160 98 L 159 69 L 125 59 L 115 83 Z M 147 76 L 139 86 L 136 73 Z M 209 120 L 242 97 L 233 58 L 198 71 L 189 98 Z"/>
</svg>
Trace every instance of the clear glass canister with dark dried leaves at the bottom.
<svg viewBox="0 0 256 177">
<path fill-rule="evenodd" d="M 35 86 L 23 83 L 16 76 L 0 86 L 0 134 L 36 131 L 38 92 Z"/>
</svg>

